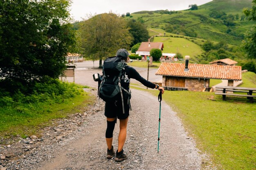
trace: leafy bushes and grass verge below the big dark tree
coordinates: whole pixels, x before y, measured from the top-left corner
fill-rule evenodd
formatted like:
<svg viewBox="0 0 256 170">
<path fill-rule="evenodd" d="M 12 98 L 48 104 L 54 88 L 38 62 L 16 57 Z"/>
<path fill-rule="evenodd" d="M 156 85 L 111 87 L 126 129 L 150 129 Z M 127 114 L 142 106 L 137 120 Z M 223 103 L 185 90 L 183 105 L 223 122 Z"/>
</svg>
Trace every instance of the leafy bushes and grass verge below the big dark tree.
<svg viewBox="0 0 256 170">
<path fill-rule="evenodd" d="M 53 119 L 82 113 L 94 97 L 80 85 L 51 79 L 36 83 L 30 94 L 0 92 L 0 136 L 40 136 L 40 129 Z"/>
</svg>

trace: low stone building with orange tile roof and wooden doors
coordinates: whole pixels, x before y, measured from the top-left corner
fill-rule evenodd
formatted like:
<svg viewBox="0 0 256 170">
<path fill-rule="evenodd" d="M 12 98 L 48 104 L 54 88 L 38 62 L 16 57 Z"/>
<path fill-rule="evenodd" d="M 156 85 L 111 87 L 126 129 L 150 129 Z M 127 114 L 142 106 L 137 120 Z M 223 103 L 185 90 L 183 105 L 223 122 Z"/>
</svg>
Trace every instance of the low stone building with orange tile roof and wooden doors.
<svg viewBox="0 0 256 170">
<path fill-rule="evenodd" d="M 156 75 L 162 75 L 162 87 L 170 90 L 208 91 L 210 79 L 228 80 L 228 86 L 242 80 L 241 66 L 162 63 Z"/>
</svg>

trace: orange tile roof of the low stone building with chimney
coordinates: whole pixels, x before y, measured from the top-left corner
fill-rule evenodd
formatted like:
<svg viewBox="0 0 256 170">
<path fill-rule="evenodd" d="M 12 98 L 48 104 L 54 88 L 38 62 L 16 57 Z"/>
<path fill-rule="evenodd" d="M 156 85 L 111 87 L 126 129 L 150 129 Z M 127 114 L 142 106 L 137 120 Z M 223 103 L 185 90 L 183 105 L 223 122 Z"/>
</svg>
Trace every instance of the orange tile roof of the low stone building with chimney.
<svg viewBox="0 0 256 170">
<path fill-rule="evenodd" d="M 184 63 L 162 63 L 156 75 L 242 80 L 241 66 L 189 64 L 189 71 L 184 69 Z"/>
</svg>

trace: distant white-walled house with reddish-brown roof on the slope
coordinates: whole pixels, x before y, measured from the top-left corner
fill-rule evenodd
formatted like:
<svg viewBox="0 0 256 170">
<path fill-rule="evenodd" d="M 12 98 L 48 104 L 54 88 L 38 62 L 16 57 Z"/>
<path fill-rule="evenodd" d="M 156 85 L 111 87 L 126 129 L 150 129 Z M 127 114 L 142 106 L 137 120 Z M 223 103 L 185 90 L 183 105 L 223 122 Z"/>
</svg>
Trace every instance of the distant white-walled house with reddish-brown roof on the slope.
<svg viewBox="0 0 256 170">
<path fill-rule="evenodd" d="M 153 48 L 163 50 L 164 44 L 162 42 L 142 42 L 136 54 L 142 56 L 142 60 L 146 60 L 146 57 L 150 56 L 150 50 Z"/>
</svg>

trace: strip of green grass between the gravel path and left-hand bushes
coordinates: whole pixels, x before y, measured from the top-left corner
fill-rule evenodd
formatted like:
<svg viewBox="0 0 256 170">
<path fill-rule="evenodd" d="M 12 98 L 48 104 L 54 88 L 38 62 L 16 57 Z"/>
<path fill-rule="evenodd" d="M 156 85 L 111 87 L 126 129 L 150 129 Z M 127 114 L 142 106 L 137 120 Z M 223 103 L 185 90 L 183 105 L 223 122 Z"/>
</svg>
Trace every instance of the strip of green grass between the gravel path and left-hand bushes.
<svg viewBox="0 0 256 170">
<path fill-rule="evenodd" d="M 1 107 L 0 136 L 5 138 L 16 135 L 21 137 L 40 136 L 42 127 L 51 125 L 52 120 L 80 113 L 93 101 L 94 97 L 81 90 L 80 95 L 66 99 L 62 103 L 54 103 L 50 100 L 16 107 Z"/>
</svg>

